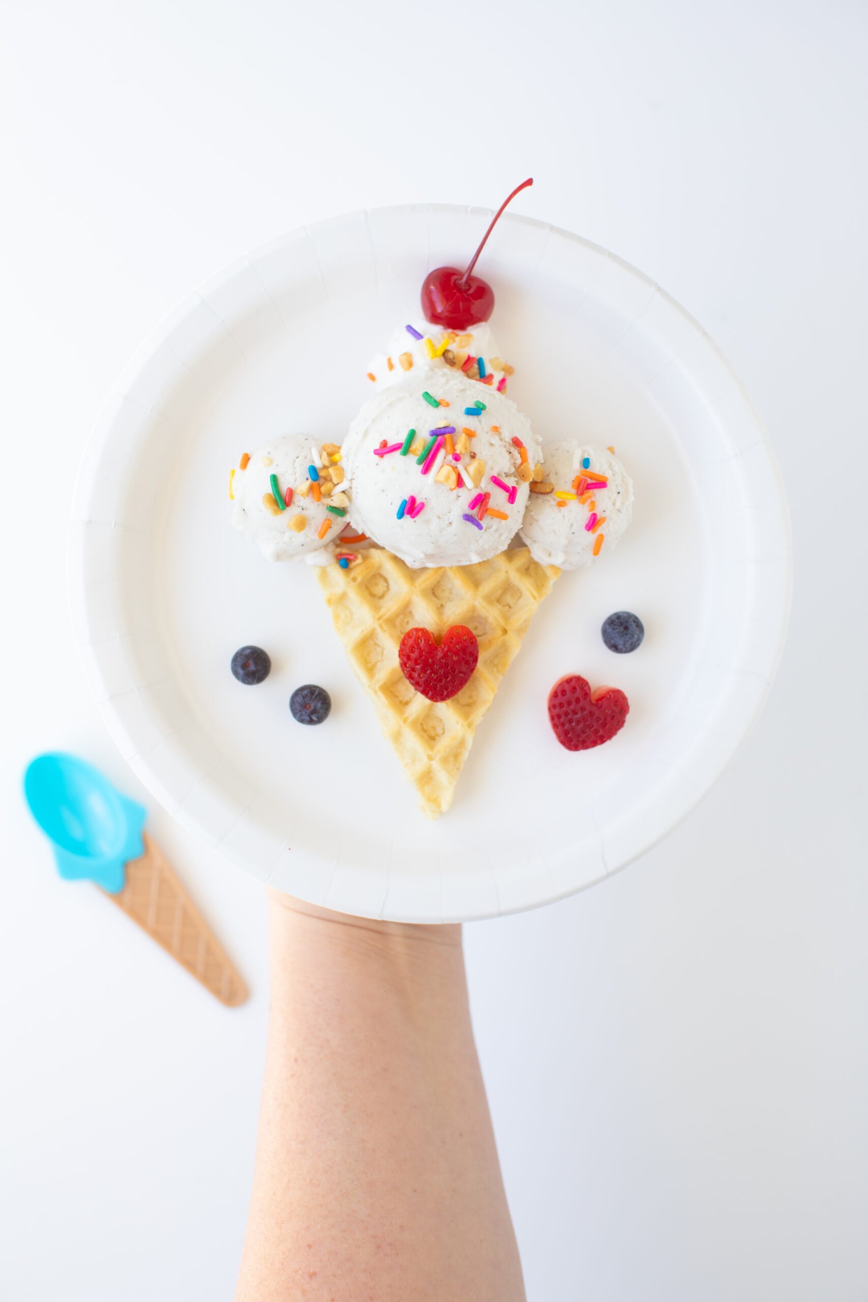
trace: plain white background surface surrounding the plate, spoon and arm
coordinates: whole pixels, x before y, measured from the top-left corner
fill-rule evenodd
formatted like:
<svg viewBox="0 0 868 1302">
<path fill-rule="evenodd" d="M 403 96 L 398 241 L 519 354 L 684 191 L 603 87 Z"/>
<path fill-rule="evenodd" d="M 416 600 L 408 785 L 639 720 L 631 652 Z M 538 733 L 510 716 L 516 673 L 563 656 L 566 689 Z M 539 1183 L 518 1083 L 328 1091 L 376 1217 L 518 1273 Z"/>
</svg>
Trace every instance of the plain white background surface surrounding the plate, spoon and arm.
<svg viewBox="0 0 868 1302">
<path fill-rule="evenodd" d="M 56 878 L 20 797 L 27 759 L 65 747 L 144 799 L 66 616 L 102 400 L 176 299 L 260 241 L 350 208 L 496 206 L 534 174 L 518 211 L 635 263 L 729 355 L 796 570 L 777 685 L 699 810 L 586 894 L 466 928 L 528 1298 L 864 1302 L 864 5 L 4 17 L 0 1295 L 228 1299 L 251 1177 L 262 887 L 152 807 L 252 988 L 226 1012 Z"/>
</svg>

